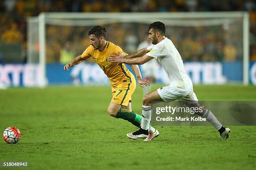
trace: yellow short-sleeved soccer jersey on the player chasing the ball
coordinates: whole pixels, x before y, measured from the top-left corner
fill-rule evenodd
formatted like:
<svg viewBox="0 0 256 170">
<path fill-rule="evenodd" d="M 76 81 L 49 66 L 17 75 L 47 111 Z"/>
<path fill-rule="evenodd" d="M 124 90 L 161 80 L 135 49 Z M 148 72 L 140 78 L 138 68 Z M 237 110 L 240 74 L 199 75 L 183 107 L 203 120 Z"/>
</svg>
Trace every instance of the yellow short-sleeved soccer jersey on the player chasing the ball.
<svg viewBox="0 0 256 170">
<path fill-rule="evenodd" d="M 108 62 L 109 55 L 118 55 L 118 51 L 123 52 L 122 48 L 112 42 L 107 41 L 107 45 L 103 51 L 95 50 L 92 45 L 82 53 L 82 58 L 93 57 L 95 62 L 101 67 L 104 73 L 108 76 L 112 87 L 117 87 L 122 82 L 131 82 L 131 72 L 124 64 L 117 65 L 115 62 Z"/>
</svg>

